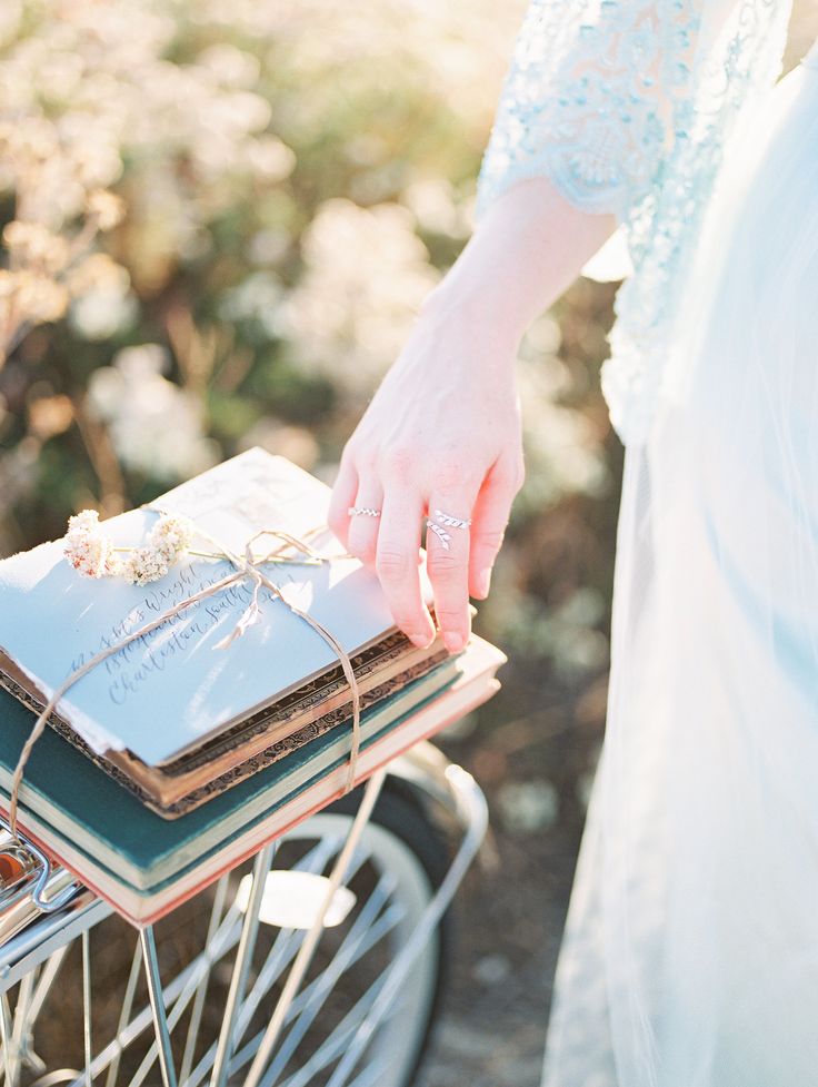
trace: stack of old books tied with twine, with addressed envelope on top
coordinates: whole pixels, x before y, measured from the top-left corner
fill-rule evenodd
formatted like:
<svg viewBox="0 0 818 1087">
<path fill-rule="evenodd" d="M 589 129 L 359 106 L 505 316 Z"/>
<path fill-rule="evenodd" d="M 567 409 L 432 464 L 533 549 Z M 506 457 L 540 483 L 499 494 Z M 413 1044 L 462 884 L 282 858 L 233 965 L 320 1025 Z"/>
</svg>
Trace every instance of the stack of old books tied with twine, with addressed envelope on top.
<svg viewBox="0 0 818 1087">
<path fill-rule="evenodd" d="M 457 654 L 438 638 L 418 649 L 393 623 L 373 571 L 355 557 L 303 554 L 259 537 L 252 579 L 202 595 L 127 645 L 129 633 L 235 571 L 262 530 L 339 556 L 326 526 L 330 488 L 253 448 L 151 503 L 99 525 L 126 555 L 158 511 L 196 527 L 158 580 L 82 576 L 51 541 L 0 562 L 0 812 L 37 714 L 59 699 L 26 764 L 19 827 L 119 912 L 146 923 L 168 912 L 296 822 L 339 797 L 352 742 L 352 691 L 338 653 L 289 605 L 331 632 L 359 688 L 356 780 L 490 698 L 505 654 L 472 634 Z M 218 546 L 217 546 L 218 545 Z M 419 566 L 423 597 L 433 593 Z M 471 606 L 471 605 L 470 605 Z M 473 606 L 471 607 L 475 612 Z M 251 609 L 252 611 L 252 609 Z M 227 644 L 226 644 L 227 643 Z"/>
</svg>

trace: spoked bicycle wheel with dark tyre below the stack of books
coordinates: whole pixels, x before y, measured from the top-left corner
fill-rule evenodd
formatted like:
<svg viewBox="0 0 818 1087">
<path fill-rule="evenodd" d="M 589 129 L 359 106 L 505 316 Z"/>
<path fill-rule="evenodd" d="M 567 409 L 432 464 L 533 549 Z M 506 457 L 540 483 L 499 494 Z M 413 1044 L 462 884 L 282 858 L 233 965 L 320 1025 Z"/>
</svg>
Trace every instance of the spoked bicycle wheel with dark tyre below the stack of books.
<svg viewBox="0 0 818 1087">
<path fill-rule="evenodd" d="M 316 877 L 329 870 L 359 792 L 283 836 L 272 864 L 273 876 L 285 874 L 280 887 L 287 887 L 287 873 Z M 435 824 L 387 784 L 350 862 L 348 911 L 321 933 L 265 1067 L 263 1087 L 413 1084 L 443 987 L 448 911 L 415 958 L 360 1060 L 342 1078 L 339 1065 L 448 864 L 448 847 Z M 218 1067 L 242 938 L 241 881 L 248 874 L 249 864 L 240 866 L 154 926 L 173 1061 L 186 1087 L 210 1084 Z M 232 1087 L 245 1083 L 305 938 L 305 929 L 276 923 L 281 902 L 268 905 L 236 1004 L 236 1040 L 223 1063 L 222 1081 Z M 106 1087 L 161 1083 L 140 945 L 137 940 L 134 948 L 133 936 L 121 919 L 108 917 L 23 978 L 2 1009 L 7 1084 L 81 1087 L 88 1077 Z"/>
</svg>

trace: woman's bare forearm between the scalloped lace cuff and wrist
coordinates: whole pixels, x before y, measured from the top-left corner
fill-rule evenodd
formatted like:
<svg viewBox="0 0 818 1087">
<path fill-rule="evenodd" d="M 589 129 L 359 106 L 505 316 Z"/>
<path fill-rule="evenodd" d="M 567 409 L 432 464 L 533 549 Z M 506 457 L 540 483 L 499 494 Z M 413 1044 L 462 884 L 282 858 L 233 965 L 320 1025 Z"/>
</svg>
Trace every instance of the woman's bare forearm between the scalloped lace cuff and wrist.
<svg viewBox="0 0 818 1087">
<path fill-rule="evenodd" d="M 614 215 L 578 210 L 545 177 L 517 181 L 427 297 L 425 318 L 473 317 L 492 340 L 516 345 L 615 228 Z"/>
</svg>

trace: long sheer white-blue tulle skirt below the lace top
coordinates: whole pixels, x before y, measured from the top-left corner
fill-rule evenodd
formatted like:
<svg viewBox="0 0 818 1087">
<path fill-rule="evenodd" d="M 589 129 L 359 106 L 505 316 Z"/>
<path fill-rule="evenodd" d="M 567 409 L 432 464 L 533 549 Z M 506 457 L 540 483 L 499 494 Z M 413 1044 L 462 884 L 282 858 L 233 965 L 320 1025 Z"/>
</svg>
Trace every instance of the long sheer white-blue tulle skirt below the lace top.
<svg viewBox="0 0 818 1087">
<path fill-rule="evenodd" d="M 818 1085 L 818 56 L 728 148 L 626 449 L 542 1087 Z"/>
</svg>

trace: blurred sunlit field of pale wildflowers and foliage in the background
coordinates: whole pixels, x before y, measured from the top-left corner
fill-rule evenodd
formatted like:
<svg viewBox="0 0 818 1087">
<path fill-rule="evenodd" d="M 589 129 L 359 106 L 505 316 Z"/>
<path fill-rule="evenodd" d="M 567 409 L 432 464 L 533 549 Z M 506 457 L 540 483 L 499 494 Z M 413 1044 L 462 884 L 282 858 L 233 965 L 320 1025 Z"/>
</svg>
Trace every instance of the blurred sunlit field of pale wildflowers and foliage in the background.
<svg viewBox="0 0 818 1087">
<path fill-rule="evenodd" d="M 335 480 L 469 236 L 520 0 L 2 0 L 0 554 L 252 445 Z M 788 65 L 810 43 L 798 6 Z M 426 1087 L 536 1087 L 605 718 L 616 284 L 519 359 L 527 478 L 478 633 L 502 691 L 440 738 L 492 837 Z"/>
</svg>

